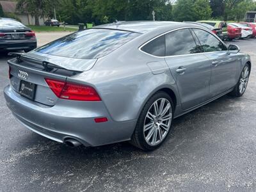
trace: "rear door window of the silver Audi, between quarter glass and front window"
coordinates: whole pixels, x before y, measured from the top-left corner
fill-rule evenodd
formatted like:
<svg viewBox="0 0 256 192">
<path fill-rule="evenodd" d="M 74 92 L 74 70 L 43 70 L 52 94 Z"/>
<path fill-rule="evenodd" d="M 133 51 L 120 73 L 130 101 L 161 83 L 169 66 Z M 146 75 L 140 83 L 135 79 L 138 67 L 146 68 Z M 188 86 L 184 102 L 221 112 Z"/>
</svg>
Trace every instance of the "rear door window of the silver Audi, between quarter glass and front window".
<svg viewBox="0 0 256 192">
<path fill-rule="evenodd" d="M 166 56 L 201 52 L 189 29 L 180 29 L 166 34 Z"/>
</svg>

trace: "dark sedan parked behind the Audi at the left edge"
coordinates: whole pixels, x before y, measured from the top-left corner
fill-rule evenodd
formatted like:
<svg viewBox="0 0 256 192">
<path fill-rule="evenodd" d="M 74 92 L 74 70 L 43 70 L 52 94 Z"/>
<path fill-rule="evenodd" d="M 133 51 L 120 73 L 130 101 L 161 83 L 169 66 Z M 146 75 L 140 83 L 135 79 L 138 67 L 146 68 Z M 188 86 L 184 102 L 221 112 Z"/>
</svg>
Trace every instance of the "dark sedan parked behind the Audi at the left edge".
<svg viewBox="0 0 256 192">
<path fill-rule="evenodd" d="M 30 28 L 21 22 L 0 18 L 0 51 L 24 50 L 36 48 L 36 35 Z"/>
</svg>

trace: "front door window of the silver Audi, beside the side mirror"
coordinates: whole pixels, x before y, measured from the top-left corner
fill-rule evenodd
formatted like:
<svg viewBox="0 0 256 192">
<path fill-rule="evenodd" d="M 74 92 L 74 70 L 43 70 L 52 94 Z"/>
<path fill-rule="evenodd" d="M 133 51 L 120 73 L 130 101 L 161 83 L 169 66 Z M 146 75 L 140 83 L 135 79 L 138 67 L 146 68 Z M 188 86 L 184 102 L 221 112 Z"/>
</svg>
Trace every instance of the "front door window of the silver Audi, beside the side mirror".
<svg viewBox="0 0 256 192">
<path fill-rule="evenodd" d="M 195 34 L 198 37 L 204 52 L 227 51 L 227 47 L 223 45 L 220 40 L 218 40 L 218 38 L 213 36 L 211 33 L 208 33 L 202 29 L 193 30 L 195 31 Z"/>
</svg>

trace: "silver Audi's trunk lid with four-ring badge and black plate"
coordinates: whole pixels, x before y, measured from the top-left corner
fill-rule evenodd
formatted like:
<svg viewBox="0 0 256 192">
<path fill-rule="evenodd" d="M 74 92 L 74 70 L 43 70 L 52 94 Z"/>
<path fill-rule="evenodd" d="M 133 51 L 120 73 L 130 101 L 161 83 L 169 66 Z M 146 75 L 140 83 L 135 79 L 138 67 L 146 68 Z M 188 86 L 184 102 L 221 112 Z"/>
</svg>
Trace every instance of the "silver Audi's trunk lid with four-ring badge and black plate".
<svg viewBox="0 0 256 192">
<path fill-rule="evenodd" d="M 85 69 L 89 70 L 95 63 L 95 60 L 84 61 L 83 63 L 76 59 L 68 60 L 63 57 L 55 58 L 23 53 L 11 54 L 17 56 L 17 58 L 8 61 L 12 89 L 27 99 L 47 106 L 54 106 L 58 97 L 49 88 L 45 78 L 65 82 L 67 77 L 75 76 Z"/>
</svg>

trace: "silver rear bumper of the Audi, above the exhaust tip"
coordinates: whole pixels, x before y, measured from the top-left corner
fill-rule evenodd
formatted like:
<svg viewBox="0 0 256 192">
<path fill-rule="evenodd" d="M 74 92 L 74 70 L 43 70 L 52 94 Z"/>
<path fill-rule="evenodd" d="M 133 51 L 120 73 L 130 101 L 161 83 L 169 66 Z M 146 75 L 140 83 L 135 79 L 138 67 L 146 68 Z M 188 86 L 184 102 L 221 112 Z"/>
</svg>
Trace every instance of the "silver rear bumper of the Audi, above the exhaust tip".
<svg viewBox="0 0 256 192">
<path fill-rule="evenodd" d="M 136 120 L 114 122 L 103 102 L 83 108 L 59 100 L 54 106 L 26 99 L 6 86 L 4 97 L 8 108 L 23 125 L 54 141 L 65 142 L 73 138 L 84 146 L 99 146 L 130 140 Z M 81 107 L 79 107 L 81 106 Z M 107 117 L 108 122 L 95 123 L 97 117 Z"/>
</svg>

